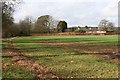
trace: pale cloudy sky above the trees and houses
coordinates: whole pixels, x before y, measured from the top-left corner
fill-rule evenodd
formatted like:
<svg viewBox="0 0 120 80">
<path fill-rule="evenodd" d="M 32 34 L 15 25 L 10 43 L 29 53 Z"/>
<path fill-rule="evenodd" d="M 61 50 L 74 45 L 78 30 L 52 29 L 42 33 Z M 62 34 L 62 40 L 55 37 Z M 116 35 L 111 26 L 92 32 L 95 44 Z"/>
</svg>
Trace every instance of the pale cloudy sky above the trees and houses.
<svg viewBox="0 0 120 80">
<path fill-rule="evenodd" d="M 65 20 L 69 27 L 97 27 L 102 19 L 118 25 L 119 0 L 23 0 L 16 7 L 15 22 L 31 16 L 34 20 L 42 15 L 51 15 L 56 20 Z"/>
</svg>

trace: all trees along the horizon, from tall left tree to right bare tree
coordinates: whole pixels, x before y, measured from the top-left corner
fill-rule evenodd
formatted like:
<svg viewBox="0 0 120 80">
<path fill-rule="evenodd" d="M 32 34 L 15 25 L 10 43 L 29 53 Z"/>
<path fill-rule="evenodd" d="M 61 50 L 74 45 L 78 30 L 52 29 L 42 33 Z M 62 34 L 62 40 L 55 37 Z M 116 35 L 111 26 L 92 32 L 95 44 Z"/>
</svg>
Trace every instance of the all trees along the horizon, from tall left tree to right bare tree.
<svg viewBox="0 0 120 80">
<path fill-rule="evenodd" d="M 14 2 L 14 0 L 11 0 Z M 13 13 L 15 11 L 15 5 L 13 2 L 2 3 L 2 37 L 15 37 L 15 36 L 29 36 L 31 33 L 59 33 L 69 31 L 66 21 L 55 20 L 50 15 L 43 15 L 33 23 L 30 16 L 19 23 L 14 23 Z M 108 20 L 101 20 L 99 30 L 113 31 L 114 24 Z M 79 28 L 79 29 L 78 29 Z M 84 32 L 80 27 L 71 28 L 71 31 Z"/>
</svg>

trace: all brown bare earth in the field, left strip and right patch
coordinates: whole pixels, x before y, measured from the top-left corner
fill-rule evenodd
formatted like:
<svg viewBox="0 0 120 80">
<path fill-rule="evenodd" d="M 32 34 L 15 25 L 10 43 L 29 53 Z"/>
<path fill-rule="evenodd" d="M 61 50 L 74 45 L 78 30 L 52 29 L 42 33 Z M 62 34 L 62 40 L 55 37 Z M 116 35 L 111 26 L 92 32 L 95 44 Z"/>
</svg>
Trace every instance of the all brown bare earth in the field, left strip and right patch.
<svg viewBox="0 0 120 80">
<path fill-rule="evenodd" d="M 120 63 L 120 54 L 113 54 L 113 52 L 120 52 L 118 45 L 113 44 L 94 44 L 94 43 L 80 43 L 80 42 L 57 42 L 42 40 L 38 41 L 40 44 L 52 45 L 52 46 L 64 46 L 68 48 L 76 49 L 77 54 L 95 54 L 98 57 L 104 59 L 112 60 L 113 62 Z M 17 50 L 14 45 L 10 42 L 8 44 L 8 49 L 10 57 L 12 57 L 12 64 L 19 67 L 23 67 L 30 71 L 33 71 L 36 75 L 35 80 L 58 80 L 59 78 L 55 76 L 51 71 L 47 69 L 46 66 L 38 64 L 31 57 L 24 55 L 22 52 Z M 6 64 L 3 63 L 2 68 L 5 69 Z"/>
</svg>

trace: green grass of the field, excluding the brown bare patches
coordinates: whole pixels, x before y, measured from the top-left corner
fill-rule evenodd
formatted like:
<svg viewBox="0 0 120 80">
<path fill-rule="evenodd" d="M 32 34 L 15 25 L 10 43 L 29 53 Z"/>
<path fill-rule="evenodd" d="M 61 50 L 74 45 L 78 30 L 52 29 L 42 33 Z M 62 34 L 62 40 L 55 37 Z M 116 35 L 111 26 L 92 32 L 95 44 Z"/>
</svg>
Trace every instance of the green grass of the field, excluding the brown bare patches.
<svg viewBox="0 0 120 80">
<path fill-rule="evenodd" d="M 74 78 L 117 78 L 118 67 L 112 60 L 104 60 L 96 55 L 85 55 L 77 47 L 72 46 L 56 46 L 44 45 L 38 43 L 40 40 L 49 40 L 57 42 L 80 42 L 94 44 L 118 44 L 117 35 L 107 36 L 30 36 L 30 37 L 15 37 L 13 43 L 16 48 L 24 54 L 31 56 L 38 63 L 47 66 L 58 77 L 74 77 Z M 7 39 L 3 39 L 3 55 L 7 55 L 5 51 Z M 76 55 L 77 54 L 77 55 Z M 3 59 L 3 62 L 8 62 L 9 59 Z M 14 77 L 19 77 L 19 73 L 24 73 L 23 70 L 18 70 L 15 67 L 9 67 L 13 73 L 17 74 Z M 8 72 L 11 72 L 10 70 Z M 26 73 L 28 73 L 26 71 Z M 5 76 L 11 76 L 7 73 Z M 26 74 L 25 74 L 26 75 Z M 5 77 L 4 76 L 4 77 Z M 23 76 L 23 75 L 21 75 Z"/>
</svg>

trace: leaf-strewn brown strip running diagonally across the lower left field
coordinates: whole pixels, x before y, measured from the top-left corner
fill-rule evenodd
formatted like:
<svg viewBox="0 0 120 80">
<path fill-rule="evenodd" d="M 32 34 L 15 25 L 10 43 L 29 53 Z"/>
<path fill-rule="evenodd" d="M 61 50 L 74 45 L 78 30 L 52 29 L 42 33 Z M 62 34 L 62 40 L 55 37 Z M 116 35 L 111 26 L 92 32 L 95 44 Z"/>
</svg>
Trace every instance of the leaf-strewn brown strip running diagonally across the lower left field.
<svg viewBox="0 0 120 80">
<path fill-rule="evenodd" d="M 8 49 L 10 57 L 12 57 L 12 66 L 18 66 L 32 71 L 36 77 L 35 80 L 58 80 L 58 77 L 55 76 L 51 71 L 48 70 L 46 66 L 38 64 L 31 57 L 28 57 L 15 49 L 12 43 L 8 44 Z M 5 64 L 2 66 L 3 70 L 5 69 Z"/>
</svg>

